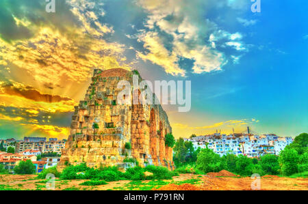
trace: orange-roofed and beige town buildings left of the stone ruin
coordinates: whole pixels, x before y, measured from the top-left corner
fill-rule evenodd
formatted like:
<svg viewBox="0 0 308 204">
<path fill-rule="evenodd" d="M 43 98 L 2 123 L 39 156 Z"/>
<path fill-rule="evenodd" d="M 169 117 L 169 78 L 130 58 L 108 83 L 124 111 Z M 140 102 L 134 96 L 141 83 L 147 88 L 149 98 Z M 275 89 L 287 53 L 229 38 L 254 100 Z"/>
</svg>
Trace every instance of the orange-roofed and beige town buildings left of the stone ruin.
<svg viewBox="0 0 308 204">
<path fill-rule="evenodd" d="M 0 164 L 13 173 L 13 169 L 21 161 L 31 160 L 36 173 L 56 166 L 60 161 L 61 151 L 66 140 L 58 141 L 46 137 L 24 137 L 23 140 L 0 139 Z M 44 156 L 43 156 L 44 155 Z"/>
</svg>

